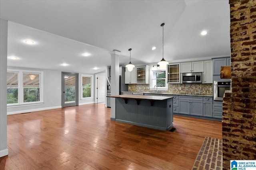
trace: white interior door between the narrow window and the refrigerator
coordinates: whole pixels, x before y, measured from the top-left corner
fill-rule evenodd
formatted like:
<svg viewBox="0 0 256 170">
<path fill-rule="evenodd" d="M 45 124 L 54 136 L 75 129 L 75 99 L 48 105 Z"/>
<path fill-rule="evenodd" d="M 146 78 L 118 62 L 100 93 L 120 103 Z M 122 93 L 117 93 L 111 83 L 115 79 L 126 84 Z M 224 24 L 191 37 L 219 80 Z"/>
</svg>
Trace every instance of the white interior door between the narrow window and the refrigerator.
<svg viewBox="0 0 256 170">
<path fill-rule="evenodd" d="M 96 103 L 105 102 L 105 86 L 106 86 L 106 77 L 103 75 L 96 75 Z"/>
</svg>

